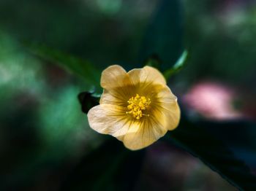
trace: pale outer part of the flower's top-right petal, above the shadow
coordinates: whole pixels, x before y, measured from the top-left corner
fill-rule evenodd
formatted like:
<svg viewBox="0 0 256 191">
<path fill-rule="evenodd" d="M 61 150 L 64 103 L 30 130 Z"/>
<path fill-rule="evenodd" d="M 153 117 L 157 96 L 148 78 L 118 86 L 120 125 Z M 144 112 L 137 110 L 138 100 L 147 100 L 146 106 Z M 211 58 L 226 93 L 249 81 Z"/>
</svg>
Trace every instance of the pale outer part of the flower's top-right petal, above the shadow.
<svg viewBox="0 0 256 191">
<path fill-rule="evenodd" d="M 165 77 L 151 66 L 145 66 L 143 69 L 132 69 L 128 74 L 134 85 L 145 82 L 166 85 Z"/>
</svg>

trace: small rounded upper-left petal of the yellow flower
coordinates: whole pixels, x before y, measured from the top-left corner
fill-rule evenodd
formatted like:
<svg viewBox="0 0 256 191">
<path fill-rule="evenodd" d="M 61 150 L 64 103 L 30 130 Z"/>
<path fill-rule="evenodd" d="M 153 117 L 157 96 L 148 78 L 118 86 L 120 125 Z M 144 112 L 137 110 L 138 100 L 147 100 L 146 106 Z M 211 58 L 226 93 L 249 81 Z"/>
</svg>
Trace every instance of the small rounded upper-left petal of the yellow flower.
<svg viewBox="0 0 256 191">
<path fill-rule="evenodd" d="M 103 88 L 111 89 L 131 85 L 129 75 L 121 66 L 113 65 L 102 71 L 100 85 Z"/>
</svg>

